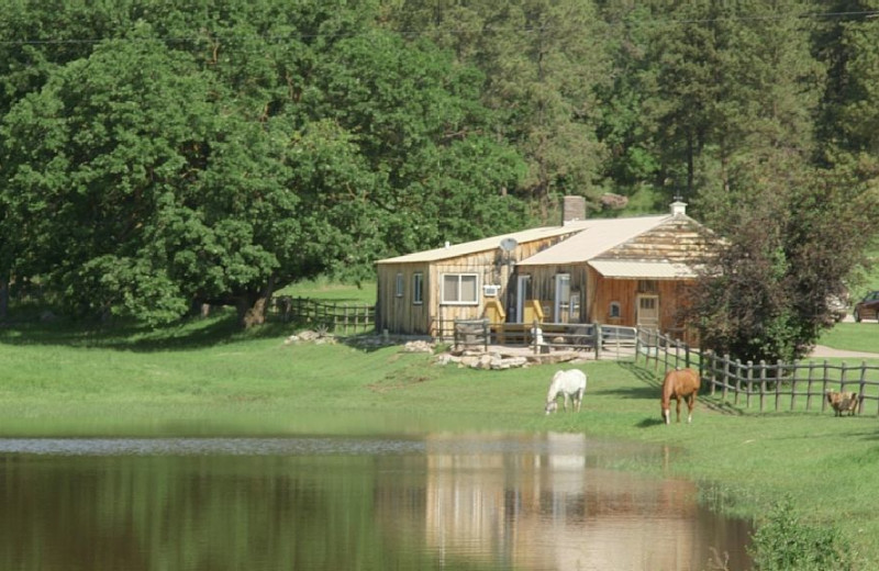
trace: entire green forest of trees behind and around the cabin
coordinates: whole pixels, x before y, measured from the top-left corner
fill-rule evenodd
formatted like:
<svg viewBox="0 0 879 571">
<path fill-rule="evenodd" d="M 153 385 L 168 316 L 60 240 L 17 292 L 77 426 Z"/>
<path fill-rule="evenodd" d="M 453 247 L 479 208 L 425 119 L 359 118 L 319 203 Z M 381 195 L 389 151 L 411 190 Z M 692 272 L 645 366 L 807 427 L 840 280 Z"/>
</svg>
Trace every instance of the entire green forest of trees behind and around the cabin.
<svg viewBox="0 0 879 571">
<path fill-rule="evenodd" d="M 3 315 L 38 289 L 258 324 L 287 284 L 556 224 L 565 194 L 678 197 L 727 238 L 712 343 L 797 352 L 879 231 L 879 0 L 0 8 Z"/>
</svg>

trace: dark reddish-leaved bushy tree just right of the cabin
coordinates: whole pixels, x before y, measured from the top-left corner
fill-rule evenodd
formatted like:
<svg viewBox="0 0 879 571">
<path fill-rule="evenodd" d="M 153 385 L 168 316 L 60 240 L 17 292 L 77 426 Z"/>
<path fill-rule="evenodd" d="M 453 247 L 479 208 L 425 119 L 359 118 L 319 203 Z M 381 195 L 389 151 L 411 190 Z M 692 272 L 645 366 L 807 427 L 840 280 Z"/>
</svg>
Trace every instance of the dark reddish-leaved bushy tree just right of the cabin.
<svg viewBox="0 0 879 571">
<path fill-rule="evenodd" d="M 750 200 L 727 206 L 734 232 L 709 260 L 689 309 L 703 347 L 742 360 L 808 354 L 833 325 L 828 302 L 845 295 L 879 215 L 875 187 L 797 168 L 778 180 L 775 170 L 738 181 Z"/>
</svg>

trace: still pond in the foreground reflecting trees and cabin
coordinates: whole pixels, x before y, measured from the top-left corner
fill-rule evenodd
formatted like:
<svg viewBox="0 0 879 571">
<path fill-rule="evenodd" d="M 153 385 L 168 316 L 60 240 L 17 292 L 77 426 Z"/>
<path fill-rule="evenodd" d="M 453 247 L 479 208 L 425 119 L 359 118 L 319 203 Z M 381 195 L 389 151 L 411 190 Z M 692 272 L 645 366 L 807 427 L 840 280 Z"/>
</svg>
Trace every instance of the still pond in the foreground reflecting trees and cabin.
<svg viewBox="0 0 879 571">
<path fill-rule="evenodd" d="M 749 569 L 746 522 L 613 469 L 663 458 L 569 434 L 0 439 L 0 569 Z"/>
</svg>

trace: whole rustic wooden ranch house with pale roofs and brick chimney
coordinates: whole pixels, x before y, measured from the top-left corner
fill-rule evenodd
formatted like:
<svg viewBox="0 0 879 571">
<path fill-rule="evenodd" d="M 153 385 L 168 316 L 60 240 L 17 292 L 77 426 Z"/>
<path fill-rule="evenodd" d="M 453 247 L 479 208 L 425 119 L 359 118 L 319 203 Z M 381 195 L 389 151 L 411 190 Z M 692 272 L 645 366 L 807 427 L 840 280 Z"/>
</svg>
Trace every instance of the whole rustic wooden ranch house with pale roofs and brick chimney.
<svg viewBox="0 0 879 571">
<path fill-rule="evenodd" d="M 378 261 L 377 331 L 447 337 L 455 320 L 601 323 L 683 335 L 680 310 L 713 233 L 675 202 L 664 215 L 585 217 L 560 226 Z"/>
</svg>

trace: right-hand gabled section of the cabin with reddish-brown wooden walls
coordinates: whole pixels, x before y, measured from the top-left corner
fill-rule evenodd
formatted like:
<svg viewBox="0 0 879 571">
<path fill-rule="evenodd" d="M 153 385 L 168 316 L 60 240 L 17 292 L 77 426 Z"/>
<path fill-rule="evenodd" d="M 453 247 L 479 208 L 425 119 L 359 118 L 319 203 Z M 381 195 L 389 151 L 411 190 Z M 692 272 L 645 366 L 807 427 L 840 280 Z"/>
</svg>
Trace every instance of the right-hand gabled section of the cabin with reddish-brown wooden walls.
<svg viewBox="0 0 879 571">
<path fill-rule="evenodd" d="M 549 323 L 653 328 L 693 340 L 682 316 L 688 289 L 717 244 L 676 202 L 663 216 L 596 220 L 516 265 Z"/>
</svg>

